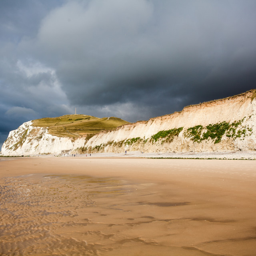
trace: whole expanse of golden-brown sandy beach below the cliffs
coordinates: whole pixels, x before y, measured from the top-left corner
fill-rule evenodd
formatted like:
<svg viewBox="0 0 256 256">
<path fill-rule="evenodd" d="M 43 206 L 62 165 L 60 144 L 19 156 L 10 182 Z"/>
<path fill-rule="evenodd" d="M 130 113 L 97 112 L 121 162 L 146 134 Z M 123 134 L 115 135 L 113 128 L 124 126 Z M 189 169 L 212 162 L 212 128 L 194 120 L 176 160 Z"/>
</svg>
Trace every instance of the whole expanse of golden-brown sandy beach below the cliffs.
<svg viewBox="0 0 256 256">
<path fill-rule="evenodd" d="M 256 162 L 0 158 L 0 255 L 256 255 Z"/>
</svg>

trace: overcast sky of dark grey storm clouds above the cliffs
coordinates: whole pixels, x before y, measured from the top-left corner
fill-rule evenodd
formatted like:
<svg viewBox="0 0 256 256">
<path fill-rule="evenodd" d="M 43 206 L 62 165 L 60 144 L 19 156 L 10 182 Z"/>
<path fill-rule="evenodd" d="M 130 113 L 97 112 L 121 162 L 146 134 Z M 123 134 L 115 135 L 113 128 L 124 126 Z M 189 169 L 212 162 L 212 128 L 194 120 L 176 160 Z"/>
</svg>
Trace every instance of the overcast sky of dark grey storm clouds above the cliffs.
<svg viewBox="0 0 256 256">
<path fill-rule="evenodd" d="M 1 0 L 0 147 L 64 114 L 129 122 L 256 88 L 255 0 Z"/>
</svg>

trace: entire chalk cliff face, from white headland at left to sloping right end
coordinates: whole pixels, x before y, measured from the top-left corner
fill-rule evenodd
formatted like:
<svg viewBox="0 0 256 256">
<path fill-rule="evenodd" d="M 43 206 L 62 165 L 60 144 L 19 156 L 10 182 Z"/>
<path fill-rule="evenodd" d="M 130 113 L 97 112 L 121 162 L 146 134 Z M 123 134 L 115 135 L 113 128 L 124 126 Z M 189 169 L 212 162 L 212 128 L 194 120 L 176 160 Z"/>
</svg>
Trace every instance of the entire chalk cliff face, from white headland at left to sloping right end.
<svg viewBox="0 0 256 256">
<path fill-rule="evenodd" d="M 61 138 L 22 124 L 10 132 L 2 155 L 74 152 L 211 152 L 256 150 L 255 90 L 184 108 L 181 112 L 125 124 L 85 138 Z"/>
</svg>

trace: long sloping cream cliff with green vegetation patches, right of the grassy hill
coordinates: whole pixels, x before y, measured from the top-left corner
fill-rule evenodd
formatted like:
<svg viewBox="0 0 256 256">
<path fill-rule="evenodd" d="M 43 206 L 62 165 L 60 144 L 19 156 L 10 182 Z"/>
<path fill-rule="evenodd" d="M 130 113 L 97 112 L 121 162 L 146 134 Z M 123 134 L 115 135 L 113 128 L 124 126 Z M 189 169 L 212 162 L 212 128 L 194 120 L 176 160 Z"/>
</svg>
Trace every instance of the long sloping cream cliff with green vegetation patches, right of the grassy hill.
<svg viewBox="0 0 256 256">
<path fill-rule="evenodd" d="M 255 96 L 251 90 L 100 132 L 80 152 L 256 150 Z"/>
</svg>

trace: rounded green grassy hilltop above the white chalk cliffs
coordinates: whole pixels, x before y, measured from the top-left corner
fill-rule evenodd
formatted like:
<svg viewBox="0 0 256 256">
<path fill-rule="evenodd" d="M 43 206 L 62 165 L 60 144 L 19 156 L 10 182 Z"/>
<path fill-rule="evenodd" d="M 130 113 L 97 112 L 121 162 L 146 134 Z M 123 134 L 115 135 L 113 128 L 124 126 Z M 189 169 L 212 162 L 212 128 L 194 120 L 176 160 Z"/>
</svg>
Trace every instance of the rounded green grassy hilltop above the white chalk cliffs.
<svg viewBox="0 0 256 256">
<path fill-rule="evenodd" d="M 64 115 L 33 120 L 33 126 L 48 127 L 48 132 L 58 137 L 91 136 L 101 130 L 113 130 L 128 123 L 116 117 L 98 118 L 86 115 Z"/>
</svg>

